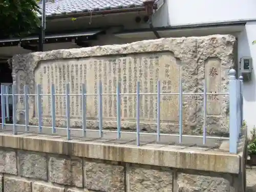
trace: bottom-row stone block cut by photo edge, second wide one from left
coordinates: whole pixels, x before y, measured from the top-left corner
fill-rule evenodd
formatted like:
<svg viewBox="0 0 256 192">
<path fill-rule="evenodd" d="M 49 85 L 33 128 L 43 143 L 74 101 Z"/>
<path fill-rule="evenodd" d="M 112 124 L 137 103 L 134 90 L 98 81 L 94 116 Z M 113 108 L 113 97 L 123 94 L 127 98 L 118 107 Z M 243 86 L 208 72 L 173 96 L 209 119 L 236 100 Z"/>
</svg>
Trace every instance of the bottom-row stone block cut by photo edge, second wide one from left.
<svg viewBox="0 0 256 192">
<path fill-rule="evenodd" d="M 46 182 L 33 182 L 32 192 L 64 192 L 65 187 L 54 186 Z"/>
</svg>

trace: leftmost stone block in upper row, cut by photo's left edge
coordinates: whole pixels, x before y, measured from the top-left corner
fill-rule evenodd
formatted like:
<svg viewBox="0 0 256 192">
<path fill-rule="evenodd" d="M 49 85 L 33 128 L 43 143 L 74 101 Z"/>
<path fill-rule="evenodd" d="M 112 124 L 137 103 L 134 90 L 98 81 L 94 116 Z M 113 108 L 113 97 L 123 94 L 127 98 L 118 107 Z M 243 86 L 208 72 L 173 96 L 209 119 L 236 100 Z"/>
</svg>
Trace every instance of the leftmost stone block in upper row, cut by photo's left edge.
<svg viewBox="0 0 256 192">
<path fill-rule="evenodd" d="M 0 150 L 0 172 L 17 175 L 16 153 Z"/>
</svg>

